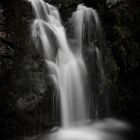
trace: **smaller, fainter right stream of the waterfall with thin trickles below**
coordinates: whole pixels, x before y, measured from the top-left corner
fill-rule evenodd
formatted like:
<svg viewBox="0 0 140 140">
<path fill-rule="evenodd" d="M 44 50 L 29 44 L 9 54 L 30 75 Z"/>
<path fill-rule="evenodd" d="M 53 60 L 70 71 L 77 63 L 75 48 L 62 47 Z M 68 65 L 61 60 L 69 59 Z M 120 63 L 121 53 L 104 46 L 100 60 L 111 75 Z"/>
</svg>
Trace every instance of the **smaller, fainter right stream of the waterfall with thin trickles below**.
<svg viewBox="0 0 140 140">
<path fill-rule="evenodd" d="M 88 71 L 88 82 L 91 91 L 88 98 L 89 114 L 94 112 L 91 118 L 98 118 L 98 96 L 102 93 L 104 83 L 104 70 L 102 67 L 101 53 L 98 47 L 102 47 L 102 27 L 98 13 L 95 9 L 79 4 L 77 10 L 70 19 L 73 26 L 72 37 L 77 40 L 76 57 L 84 54 Z"/>
</svg>

